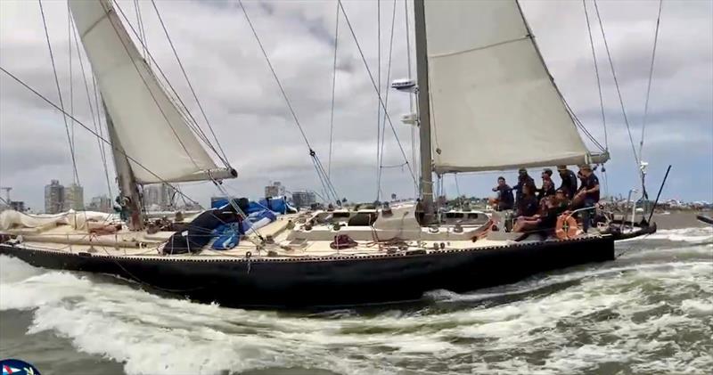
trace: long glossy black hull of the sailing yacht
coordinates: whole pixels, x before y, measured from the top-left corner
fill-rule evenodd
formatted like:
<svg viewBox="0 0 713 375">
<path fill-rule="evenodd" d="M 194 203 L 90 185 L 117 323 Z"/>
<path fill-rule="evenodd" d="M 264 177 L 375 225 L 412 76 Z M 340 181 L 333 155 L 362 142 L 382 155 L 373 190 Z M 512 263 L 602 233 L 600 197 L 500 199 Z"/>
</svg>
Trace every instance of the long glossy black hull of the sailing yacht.
<svg viewBox="0 0 713 375">
<path fill-rule="evenodd" d="M 464 292 L 532 274 L 614 259 L 614 237 L 561 240 L 431 254 L 201 260 L 69 254 L 0 245 L 0 254 L 39 267 L 108 273 L 221 306 L 305 308 L 415 300 L 434 289 Z"/>
</svg>

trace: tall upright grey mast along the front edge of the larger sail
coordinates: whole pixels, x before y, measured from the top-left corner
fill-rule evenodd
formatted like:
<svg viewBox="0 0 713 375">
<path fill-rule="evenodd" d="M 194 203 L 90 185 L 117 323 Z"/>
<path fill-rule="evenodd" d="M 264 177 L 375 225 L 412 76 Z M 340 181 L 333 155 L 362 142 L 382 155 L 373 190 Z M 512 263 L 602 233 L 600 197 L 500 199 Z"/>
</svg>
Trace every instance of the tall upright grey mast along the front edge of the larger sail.
<svg viewBox="0 0 713 375">
<path fill-rule="evenodd" d="M 433 222 L 433 172 L 430 154 L 429 60 L 426 45 L 424 0 L 414 0 L 414 34 L 416 42 L 416 78 L 418 79 L 419 143 L 421 145 L 421 201 L 423 224 Z"/>
</svg>

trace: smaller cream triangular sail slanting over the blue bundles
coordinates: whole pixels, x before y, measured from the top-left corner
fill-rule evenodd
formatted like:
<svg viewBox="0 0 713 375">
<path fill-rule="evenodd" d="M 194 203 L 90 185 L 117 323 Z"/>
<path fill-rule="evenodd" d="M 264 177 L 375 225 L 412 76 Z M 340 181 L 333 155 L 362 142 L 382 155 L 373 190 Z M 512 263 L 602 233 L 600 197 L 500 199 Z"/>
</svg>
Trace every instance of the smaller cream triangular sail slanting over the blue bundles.
<svg viewBox="0 0 713 375">
<path fill-rule="evenodd" d="M 209 179 L 215 162 L 143 60 L 111 0 L 70 0 L 70 10 L 119 138 L 112 141 L 133 159 L 136 182 Z"/>
</svg>

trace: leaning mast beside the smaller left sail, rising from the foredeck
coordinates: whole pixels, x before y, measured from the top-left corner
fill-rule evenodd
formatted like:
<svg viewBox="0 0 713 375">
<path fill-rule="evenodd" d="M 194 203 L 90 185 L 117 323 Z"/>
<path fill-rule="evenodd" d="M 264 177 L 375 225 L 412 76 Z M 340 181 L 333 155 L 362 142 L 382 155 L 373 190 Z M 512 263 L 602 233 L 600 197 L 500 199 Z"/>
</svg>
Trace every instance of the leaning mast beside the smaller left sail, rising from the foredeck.
<svg viewBox="0 0 713 375">
<path fill-rule="evenodd" d="M 141 231 L 143 229 L 143 217 L 138 183 L 136 183 L 134 171 L 128 162 L 127 154 L 119 142 L 119 136 L 117 135 L 113 121 L 111 121 L 109 110 L 106 109 L 106 103 L 103 101 L 102 107 L 104 108 L 104 116 L 106 117 L 106 127 L 109 130 L 109 141 L 111 142 L 111 153 L 114 157 L 114 168 L 117 171 L 119 204 L 122 209 L 127 209 L 128 228 L 132 231 Z"/>
</svg>

